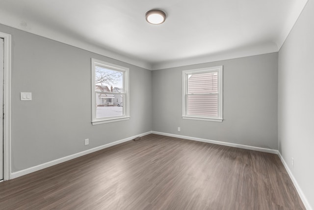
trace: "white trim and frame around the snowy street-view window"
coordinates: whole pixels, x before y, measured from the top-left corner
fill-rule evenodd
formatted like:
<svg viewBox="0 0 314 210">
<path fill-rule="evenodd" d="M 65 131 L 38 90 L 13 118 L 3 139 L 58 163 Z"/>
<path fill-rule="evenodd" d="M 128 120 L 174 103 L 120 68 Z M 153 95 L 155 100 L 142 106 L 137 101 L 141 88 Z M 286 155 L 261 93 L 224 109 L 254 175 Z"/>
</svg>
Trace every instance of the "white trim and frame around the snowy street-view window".
<svg viewBox="0 0 314 210">
<path fill-rule="evenodd" d="M 113 63 L 105 62 L 103 60 L 96 60 L 96 59 L 91 59 L 92 60 L 92 124 L 97 125 L 97 124 L 103 124 L 103 123 L 109 123 L 109 122 L 116 122 L 116 121 L 122 121 L 122 120 L 130 120 L 130 92 L 129 92 L 129 68 L 116 65 Z M 103 119 L 97 119 L 96 118 L 96 94 L 95 94 L 95 65 L 101 65 L 105 66 L 111 69 L 116 69 L 119 71 L 124 72 L 124 85 L 125 85 L 125 99 L 123 101 L 123 111 L 124 115 L 123 116 L 118 116 L 118 117 L 110 117 L 110 118 L 103 118 Z"/>
</svg>

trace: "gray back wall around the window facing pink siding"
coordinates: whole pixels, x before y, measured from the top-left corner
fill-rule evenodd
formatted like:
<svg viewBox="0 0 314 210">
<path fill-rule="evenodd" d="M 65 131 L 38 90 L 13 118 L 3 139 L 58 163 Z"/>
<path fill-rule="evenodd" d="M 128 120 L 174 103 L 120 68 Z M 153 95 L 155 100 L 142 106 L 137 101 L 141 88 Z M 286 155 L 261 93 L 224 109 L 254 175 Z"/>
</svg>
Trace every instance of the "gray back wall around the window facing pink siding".
<svg viewBox="0 0 314 210">
<path fill-rule="evenodd" d="M 223 122 L 183 120 L 182 71 L 217 65 Z M 153 71 L 153 130 L 277 150 L 277 65 L 271 53 Z"/>
</svg>

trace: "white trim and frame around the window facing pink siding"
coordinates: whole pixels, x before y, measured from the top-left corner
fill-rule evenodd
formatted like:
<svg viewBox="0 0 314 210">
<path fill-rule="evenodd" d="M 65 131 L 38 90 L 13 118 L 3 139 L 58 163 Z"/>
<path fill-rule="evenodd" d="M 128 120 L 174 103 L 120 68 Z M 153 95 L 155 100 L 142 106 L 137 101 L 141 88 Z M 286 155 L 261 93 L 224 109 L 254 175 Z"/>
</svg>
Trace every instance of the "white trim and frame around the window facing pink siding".
<svg viewBox="0 0 314 210">
<path fill-rule="evenodd" d="M 203 117 L 203 116 L 195 116 L 195 115 L 188 115 L 186 108 L 187 108 L 187 75 L 190 73 L 200 73 L 206 71 L 218 71 L 218 83 L 219 83 L 219 94 L 218 94 L 218 117 Z M 198 68 L 198 69 L 190 69 L 182 71 L 182 118 L 185 120 L 205 120 L 205 121 L 215 121 L 215 122 L 222 122 L 222 108 L 223 108 L 223 66 L 213 66 L 207 68 Z"/>
</svg>

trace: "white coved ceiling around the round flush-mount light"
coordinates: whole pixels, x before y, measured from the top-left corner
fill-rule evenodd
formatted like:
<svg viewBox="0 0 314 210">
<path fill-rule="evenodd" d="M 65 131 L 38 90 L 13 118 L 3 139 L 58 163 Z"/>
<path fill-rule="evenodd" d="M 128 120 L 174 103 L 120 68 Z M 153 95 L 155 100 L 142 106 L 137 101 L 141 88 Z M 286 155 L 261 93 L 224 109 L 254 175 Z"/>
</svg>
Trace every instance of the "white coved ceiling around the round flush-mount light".
<svg viewBox="0 0 314 210">
<path fill-rule="evenodd" d="M 278 52 L 307 1 L 0 0 L 0 23 L 154 70 Z"/>
</svg>

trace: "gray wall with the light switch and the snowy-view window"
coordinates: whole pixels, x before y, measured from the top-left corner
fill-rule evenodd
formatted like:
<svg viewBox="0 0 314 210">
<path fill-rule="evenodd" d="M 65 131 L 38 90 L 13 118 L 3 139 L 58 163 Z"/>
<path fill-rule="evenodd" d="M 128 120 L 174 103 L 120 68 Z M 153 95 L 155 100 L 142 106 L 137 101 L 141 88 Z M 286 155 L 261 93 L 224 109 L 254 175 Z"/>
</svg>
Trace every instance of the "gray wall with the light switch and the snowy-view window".
<svg viewBox="0 0 314 210">
<path fill-rule="evenodd" d="M 12 34 L 12 172 L 152 130 L 151 71 L 3 25 L 0 31 Z M 91 58 L 130 68 L 130 120 L 91 124 Z M 32 92 L 32 101 L 20 101 L 20 92 Z"/>
</svg>

